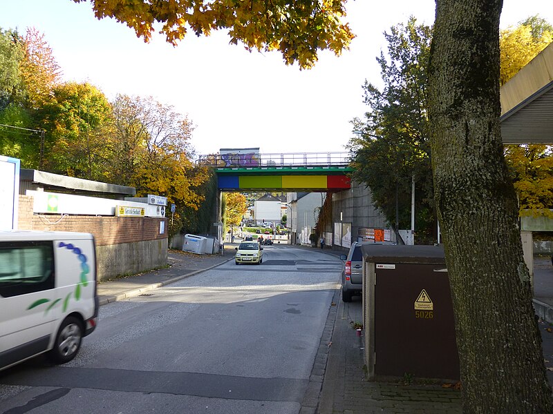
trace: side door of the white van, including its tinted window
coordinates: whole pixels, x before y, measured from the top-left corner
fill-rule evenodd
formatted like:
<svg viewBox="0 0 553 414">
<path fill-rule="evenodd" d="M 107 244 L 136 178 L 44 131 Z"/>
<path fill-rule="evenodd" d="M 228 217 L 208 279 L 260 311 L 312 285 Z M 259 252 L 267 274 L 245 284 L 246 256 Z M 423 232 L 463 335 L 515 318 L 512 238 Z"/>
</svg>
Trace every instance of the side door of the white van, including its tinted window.
<svg viewBox="0 0 553 414">
<path fill-rule="evenodd" d="M 54 286 L 53 242 L 0 242 L 0 366 L 48 348 Z"/>
</svg>

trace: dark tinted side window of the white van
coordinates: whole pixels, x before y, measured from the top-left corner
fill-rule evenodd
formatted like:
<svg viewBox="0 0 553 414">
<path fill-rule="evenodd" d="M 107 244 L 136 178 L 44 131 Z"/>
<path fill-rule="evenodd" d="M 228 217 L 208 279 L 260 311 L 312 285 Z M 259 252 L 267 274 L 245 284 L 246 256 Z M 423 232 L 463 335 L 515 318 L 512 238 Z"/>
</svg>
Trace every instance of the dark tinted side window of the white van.
<svg viewBox="0 0 553 414">
<path fill-rule="evenodd" d="M 0 242 L 0 295 L 54 288 L 53 242 Z"/>
</svg>

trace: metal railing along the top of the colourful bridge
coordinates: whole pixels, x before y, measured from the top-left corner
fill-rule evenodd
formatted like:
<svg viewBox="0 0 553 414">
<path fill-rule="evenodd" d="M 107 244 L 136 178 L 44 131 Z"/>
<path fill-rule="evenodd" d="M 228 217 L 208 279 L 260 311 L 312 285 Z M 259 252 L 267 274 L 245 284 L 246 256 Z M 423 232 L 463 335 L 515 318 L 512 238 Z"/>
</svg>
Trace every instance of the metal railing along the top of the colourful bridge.
<svg viewBox="0 0 553 414">
<path fill-rule="evenodd" d="M 217 168 L 348 166 L 350 154 L 349 152 L 210 154 L 199 155 L 196 162 Z"/>
</svg>

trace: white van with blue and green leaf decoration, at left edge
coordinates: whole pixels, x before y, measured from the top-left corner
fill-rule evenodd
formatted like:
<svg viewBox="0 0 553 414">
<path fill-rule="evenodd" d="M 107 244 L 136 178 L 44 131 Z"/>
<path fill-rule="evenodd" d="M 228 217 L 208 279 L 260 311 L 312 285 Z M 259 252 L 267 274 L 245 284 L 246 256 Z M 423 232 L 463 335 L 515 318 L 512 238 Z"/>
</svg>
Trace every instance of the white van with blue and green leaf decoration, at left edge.
<svg viewBox="0 0 553 414">
<path fill-rule="evenodd" d="M 0 370 L 41 353 L 71 361 L 97 315 L 93 235 L 0 231 Z"/>
</svg>

